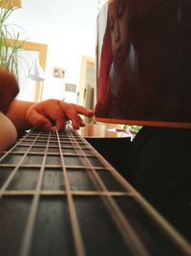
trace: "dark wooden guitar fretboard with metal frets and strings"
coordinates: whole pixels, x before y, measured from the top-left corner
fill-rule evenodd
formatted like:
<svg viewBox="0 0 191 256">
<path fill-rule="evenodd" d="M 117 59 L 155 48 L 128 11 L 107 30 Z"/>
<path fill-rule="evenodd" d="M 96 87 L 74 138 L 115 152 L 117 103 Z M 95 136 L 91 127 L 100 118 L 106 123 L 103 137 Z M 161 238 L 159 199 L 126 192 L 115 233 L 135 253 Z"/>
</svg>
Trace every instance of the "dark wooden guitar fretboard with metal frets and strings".
<svg viewBox="0 0 191 256">
<path fill-rule="evenodd" d="M 2 256 L 188 256 L 191 245 L 75 130 L 0 158 Z"/>
</svg>

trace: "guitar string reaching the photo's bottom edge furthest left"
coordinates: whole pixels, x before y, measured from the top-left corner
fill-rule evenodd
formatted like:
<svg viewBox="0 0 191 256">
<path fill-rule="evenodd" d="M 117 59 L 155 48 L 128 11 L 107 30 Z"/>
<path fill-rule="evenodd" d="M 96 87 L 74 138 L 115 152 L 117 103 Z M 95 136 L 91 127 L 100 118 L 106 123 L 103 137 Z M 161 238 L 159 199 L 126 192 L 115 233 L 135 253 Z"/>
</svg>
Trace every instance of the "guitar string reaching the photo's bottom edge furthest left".
<svg viewBox="0 0 191 256">
<path fill-rule="evenodd" d="M 44 156 L 42 159 L 41 169 L 39 171 L 37 184 L 36 184 L 36 187 L 34 190 L 34 196 L 32 198 L 32 206 L 31 206 L 30 214 L 29 214 L 28 221 L 26 224 L 26 228 L 24 231 L 23 241 L 21 243 L 21 248 L 20 248 L 20 253 L 19 253 L 20 256 L 29 256 L 31 254 L 33 228 L 34 228 L 34 222 L 36 219 L 37 208 L 38 208 L 38 204 L 39 204 L 40 191 L 41 191 L 43 176 L 44 176 L 44 172 L 45 172 L 45 166 L 46 166 L 47 154 L 48 154 L 48 150 L 49 150 L 51 133 L 52 133 L 52 131 L 49 132 L 47 145 L 46 145 Z"/>
</svg>

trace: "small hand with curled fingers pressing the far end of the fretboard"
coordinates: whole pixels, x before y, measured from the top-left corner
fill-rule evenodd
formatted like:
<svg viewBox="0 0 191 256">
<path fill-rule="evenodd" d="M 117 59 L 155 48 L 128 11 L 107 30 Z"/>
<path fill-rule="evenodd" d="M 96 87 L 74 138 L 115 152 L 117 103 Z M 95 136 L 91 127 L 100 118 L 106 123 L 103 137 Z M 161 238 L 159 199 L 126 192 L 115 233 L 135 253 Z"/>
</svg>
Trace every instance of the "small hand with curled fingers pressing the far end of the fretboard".
<svg viewBox="0 0 191 256">
<path fill-rule="evenodd" d="M 27 120 L 32 127 L 50 130 L 55 123 L 57 130 L 65 129 L 66 122 L 72 121 L 75 129 L 85 124 L 79 114 L 91 117 L 94 111 L 81 105 L 68 104 L 59 100 L 46 100 L 32 105 L 27 111 Z"/>
</svg>

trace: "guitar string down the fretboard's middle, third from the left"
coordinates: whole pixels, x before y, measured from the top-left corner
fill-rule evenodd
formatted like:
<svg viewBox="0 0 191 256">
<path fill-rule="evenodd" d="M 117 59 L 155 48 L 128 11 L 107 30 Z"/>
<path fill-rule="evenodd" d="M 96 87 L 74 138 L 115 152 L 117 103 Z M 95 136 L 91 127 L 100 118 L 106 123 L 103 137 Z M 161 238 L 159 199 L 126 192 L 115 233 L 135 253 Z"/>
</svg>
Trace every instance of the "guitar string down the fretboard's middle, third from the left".
<svg viewBox="0 0 191 256">
<path fill-rule="evenodd" d="M 57 135 L 57 142 L 58 142 L 58 146 L 59 146 L 61 165 L 62 165 L 62 171 L 63 171 L 63 177 L 64 177 L 63 181 L 64 181 L 64 184 L 66 187 L 66 196 L 67 196 L 67 200 L 68 200 L 69 213 L 70 213 L 72 230 L 73 230 L 73 235 L 74 235 L 75 253 L 77 256 L 85 256 L 86 254 L 85 254 L 85 250 L 84 250 L 82 236 L 81 236 L 81 232 L 79 229 L 79 224 L 77 221 L 77 216 L 76 216 L 76 212 L 75 212 L 75 208 L 74 208 L 74 198 L 71 193 L 69 179 L 68 179 L 67 170 L 66 170 L 66 164 L 65 164 L 65 160 L 64 160 L 64 157 L 62 154 L 59 133 L 57 130 L 56 130 L 56 135 Z"/>
</svg>

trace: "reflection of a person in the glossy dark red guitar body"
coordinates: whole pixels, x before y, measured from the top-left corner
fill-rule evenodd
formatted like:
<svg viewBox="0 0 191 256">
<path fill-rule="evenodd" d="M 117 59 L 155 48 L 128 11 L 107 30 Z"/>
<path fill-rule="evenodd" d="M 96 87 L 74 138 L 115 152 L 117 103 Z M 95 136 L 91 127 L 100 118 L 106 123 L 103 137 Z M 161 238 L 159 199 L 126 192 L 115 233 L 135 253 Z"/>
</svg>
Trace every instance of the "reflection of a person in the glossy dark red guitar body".
<svg viewBox="0 0 191 256">
<path fill-rule="evenodd" d="M 104 117 L 129 117 L 135 102 L 133 95 L 138 84 L 138 59 L 129 31 L 131 12 L 131 1 L 113 1 L 108 7 L 96 105 L 96 113 Z"/>
</svg>

